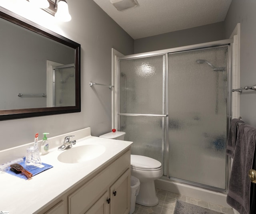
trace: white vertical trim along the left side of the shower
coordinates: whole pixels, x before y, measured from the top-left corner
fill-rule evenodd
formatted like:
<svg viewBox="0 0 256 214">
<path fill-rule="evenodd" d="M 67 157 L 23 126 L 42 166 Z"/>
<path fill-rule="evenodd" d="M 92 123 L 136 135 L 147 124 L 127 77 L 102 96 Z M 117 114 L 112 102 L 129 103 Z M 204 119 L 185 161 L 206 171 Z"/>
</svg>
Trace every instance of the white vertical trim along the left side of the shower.
<svg viewBox="0 0 256 214">
<path fill-rule="evenodd" d="M 122 53 L 112 48 L 112 129 L 117 129 L 117 94 L 118 94 L 118 75 L 117 75 L 117 61 L 116 57 L 124 56 Z"/>
</svg>

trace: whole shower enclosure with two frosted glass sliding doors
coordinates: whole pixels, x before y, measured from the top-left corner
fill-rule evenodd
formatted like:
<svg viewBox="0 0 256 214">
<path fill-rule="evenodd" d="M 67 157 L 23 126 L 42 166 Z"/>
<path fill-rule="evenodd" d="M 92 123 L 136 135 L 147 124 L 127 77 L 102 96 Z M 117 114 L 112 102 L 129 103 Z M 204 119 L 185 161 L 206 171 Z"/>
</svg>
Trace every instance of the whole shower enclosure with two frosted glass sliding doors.
<svg viewBox="0 0 256 214">
<path fill-rule="evenodd" d="M 132 154 L 162 163 L 165 181 L 227 189 L 229 52 L 225 43 L 118 58 L 118 129 Z"/>
</svg>

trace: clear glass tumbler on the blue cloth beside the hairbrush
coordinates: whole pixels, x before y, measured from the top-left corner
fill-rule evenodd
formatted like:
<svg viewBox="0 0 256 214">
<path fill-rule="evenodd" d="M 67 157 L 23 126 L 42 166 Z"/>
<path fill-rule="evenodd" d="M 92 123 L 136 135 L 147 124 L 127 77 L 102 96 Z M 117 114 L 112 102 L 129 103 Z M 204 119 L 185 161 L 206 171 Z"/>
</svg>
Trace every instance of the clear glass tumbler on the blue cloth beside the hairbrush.
<svg viewBox="0 0 256 214">
<path fill-rule="evenodd" d="M 27 148 L 26 152 L 26 160 L 25 160 L 25 168 L 26 169 L 34 169 L 41 165 L 41 158 L 39 155 L 37 146 L 30 146 Z"/>
</svg>

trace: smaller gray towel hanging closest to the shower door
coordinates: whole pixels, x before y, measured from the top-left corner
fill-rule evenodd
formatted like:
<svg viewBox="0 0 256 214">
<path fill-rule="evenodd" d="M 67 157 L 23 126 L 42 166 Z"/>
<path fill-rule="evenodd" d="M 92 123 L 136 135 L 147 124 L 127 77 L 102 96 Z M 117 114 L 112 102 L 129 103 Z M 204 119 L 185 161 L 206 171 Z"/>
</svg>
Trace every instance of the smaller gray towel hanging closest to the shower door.
<svg viewBox="0 0 256 214">
<path fill-rule="evenodd" d="M 230 130 L 228 132 L 228 140 L 226 146 L 226 154 L 232 158 L 234 158 L 234 150 L 236 144 L 236 127 L 238 123 L 244 123 L 244 121 L 240 119 L 232 119 L 230 122 Z"/>
</svg>

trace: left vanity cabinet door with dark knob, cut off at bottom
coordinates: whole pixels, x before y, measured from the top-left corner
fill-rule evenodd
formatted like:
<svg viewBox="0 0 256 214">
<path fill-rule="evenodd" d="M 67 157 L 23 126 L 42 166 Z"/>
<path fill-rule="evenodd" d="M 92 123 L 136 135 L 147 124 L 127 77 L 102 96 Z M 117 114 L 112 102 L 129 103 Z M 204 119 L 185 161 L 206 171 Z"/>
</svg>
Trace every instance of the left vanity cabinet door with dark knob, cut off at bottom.
<svg viewBox="0 0 256 214">
<path fill-rule="evenodd" d="M 109 192 L 105 192 L 85 214 L 109 214 Z"/>
</svg>

